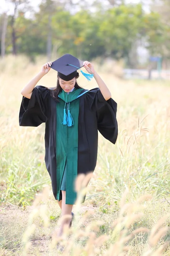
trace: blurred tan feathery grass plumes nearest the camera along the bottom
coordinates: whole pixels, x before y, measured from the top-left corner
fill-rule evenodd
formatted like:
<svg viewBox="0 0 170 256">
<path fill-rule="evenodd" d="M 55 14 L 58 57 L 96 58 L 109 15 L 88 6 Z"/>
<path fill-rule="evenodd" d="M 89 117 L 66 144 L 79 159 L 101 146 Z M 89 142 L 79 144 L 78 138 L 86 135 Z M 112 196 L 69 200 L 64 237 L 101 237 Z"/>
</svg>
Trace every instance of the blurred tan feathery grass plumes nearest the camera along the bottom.
<svg viewBox="0 0 170 256">
<path fill-rule="evenodd" d="M 119 212 L 116 218 L 110 220 L 110 230 L 108 233 L 101 233 L 101 228 L 105 225 L 105 221 L 99 218 L 94 218 L 89 221 L 89 217 L 95 216 L 94 210 L 85 212 L 82 216 L 79 214 L 81 208 L 81 199 L 87 188 L 81 188 L 80 183 L 88 180 L 89 177 L 77 178 L 78 198 L 74 207 L 76 219 L 74 227 L 64 228 L 63 235 L 57 237 L 57 229 L 52 233 L 51 240 L 48 244 L 49 255 L 64 256 L 160 256 L 168 255 L 168 242 L 164 241 L 169 228 L 166 226 L 170 215 L 164 215 L 150 229 L 148 227 L 135 227 L 135 224 L 145 217 L 147 209 L 147 201 L 152 199 L 150 195 L 143 195 L 137 201 L 126 202 L 128 191 L 126 190 L 119 203 Z M 47 213 L 47 201 L 49 197 L 49 187 L 46 187 L 34 201 L 32 212 L 28 219 L 28 227 L 26 228 L 22 239 L 22 255 L 30 255 L 31 238 L 34 236 L 36 224 L 34 219 L 40 215 L 44 228 L 49 226 L 49 217 Z M 112 216 L 113 217 L 113 216 Z M 65 215 L 59 218 L 58 223 L 61 223 L 65 218 L 70 218 L 70 215 Z M 83 227 L 83 224 L 86 223 Z M 39 254 L 37 254 L 39 255 Z"/>
</svg>

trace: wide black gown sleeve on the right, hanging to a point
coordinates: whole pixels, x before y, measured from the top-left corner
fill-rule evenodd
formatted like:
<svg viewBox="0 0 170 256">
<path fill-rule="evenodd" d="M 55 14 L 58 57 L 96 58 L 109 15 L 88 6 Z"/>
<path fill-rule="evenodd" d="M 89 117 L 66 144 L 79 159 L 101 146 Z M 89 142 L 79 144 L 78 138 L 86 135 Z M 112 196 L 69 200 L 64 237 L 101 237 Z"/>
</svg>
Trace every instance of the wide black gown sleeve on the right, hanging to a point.
<svg viewBox="0 0 170 256">
<path fill-rule="evenodd" d="M 118 136 L 117 103 L 112 98 L 106 101 L 99 88 L 95 88 L 93 93 L 97 128 L 105 139 L 115 144 Z"/>
</svg>

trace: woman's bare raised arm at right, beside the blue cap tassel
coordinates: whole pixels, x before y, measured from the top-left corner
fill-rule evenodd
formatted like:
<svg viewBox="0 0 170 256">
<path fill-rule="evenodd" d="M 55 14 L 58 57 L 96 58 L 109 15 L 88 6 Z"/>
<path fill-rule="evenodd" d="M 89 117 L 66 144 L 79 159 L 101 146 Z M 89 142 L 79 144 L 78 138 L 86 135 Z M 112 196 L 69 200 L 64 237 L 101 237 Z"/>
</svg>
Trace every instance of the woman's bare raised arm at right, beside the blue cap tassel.
<svg viewBox="0 0 170 256">
<path fill-rule="evenodd" d="M 90 62 L 88 62 L 88 61 L 84 61 L 84 67 L 88 71 L 88 73 L 94 75 L 94 79 L 96 80 L 96 82 L 97 82 L 97 84 L 99 86 L 99 89 L 100 89 L 103 97 L 105 98 L 105 100 L 111 99 L 111 92 L 110 92 L 110 90 L 108 89 L 108 87 L 105 84 L 105 82 L 101 79 L 99 74 L 97 74 L 97 72 L 94 70 L 93 65 Z"/>
</svg>

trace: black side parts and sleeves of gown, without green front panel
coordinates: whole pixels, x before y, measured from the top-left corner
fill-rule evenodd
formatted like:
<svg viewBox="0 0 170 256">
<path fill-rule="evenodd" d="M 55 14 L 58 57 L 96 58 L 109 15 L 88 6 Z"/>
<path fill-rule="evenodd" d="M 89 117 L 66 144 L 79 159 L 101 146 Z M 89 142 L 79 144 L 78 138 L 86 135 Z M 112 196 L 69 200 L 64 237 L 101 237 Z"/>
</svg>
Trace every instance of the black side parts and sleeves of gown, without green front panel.
<svg viewBox="0 0 170 256">
<path fill-rule="evenodd" d="M 20 112 L 20 126 L 39 126 L 45 122 L 45 165 L 51 177 L 54 198 L 57 199 L 56 128 L 57 102 L 51 96 L 51 89 L 36 86 L 31 99 L 23 96 Z M 77 175 L 93 172 L 96 167 L 98 130 L 105 139 L 115 144 L 118 134 L 116 120 L 117 103 L 106 101 L 99 88 L 89 90 L 79 98 L 78 119 L 78 166 Z M 85 197 L 82 203 L 85 201 Z"/>
</svg>

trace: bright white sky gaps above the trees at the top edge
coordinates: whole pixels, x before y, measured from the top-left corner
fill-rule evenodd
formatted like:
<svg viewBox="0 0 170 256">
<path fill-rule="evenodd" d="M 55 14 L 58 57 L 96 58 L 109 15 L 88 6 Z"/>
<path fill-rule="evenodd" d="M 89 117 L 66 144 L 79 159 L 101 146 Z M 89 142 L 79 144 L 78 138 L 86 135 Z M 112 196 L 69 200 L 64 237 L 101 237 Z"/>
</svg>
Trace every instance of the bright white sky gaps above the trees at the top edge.
<svg viewBox="0 0 170 256">
<path fill-rule="evenodd" d="M 91 0 L 89 0 L 91 1 Z M 104 1 L 104 0 L 103 0 Z M 148 9 L 149 6 L 149 2 L 150 0 L 125 0 L 126 3 L 144 3 L 145 7 Z M 36 8 L 36 6 L 39 5 L 39 3 L 41 2 L 41 0 L 30 0 L 31 5 L 34 6 Z M 77 0 L 74 0 L 75 3 L 77 3 Z M 12 13 L 13 12 L 13 5 L 10 3 L 6 3 L 6 0 L 0 0 L 0 13 L 2 12 L 6 12 L 8 11 L 8 13 Z"/>
</svg>

